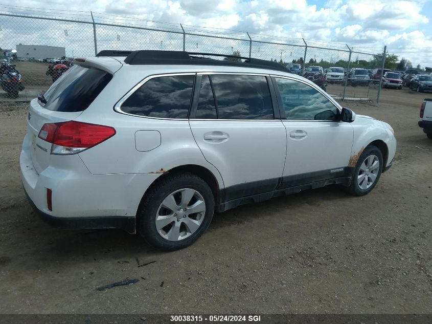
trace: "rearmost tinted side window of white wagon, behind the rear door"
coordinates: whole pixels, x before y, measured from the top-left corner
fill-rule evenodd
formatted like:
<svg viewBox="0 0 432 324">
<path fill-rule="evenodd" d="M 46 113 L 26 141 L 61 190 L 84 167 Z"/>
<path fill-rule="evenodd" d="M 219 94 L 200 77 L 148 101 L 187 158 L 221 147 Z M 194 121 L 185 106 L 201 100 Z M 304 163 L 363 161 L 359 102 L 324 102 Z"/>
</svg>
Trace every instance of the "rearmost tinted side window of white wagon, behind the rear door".
<svg viewBox="0 0 432 324">
<path fill-rule="evenodd" d="M 122 104 L 127 114 L 157 118 L 188 118 L 195 75 L 155 77 Z"/>
</svg>

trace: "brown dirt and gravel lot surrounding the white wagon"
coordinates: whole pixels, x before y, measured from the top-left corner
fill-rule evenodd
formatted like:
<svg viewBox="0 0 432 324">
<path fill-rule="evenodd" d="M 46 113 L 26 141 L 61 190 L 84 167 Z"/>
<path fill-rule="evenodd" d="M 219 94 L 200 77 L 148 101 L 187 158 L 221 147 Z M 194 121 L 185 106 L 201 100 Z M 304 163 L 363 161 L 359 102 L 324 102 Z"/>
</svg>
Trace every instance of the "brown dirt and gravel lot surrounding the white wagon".
<svg viewBox="0 0 432 324">
<path fill-rule="evenodd" d="M 243 206 L 170 253 L 120 230 L 43 223 L 19 177 L 27 107 L 1 106 L 1 312 L 430 313 L 432 140 L 417 125 L 425 95 L 384 92 L 391 100 L 378 107 L 343 103 L 396 132 L 394 165 L 370 195 L 327 187 Z M 95 290 L 125 278 L 140 281 Z"/>
</svg>

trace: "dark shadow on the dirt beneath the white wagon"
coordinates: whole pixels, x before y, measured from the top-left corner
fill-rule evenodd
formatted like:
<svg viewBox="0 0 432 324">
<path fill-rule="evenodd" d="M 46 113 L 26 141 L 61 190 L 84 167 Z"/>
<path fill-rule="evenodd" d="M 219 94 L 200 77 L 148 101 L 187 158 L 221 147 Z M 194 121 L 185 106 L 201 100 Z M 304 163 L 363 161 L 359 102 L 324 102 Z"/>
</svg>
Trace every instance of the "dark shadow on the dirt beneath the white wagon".
<svg viewBox="0 0 432 324">
<path fill-rule="evenodd" d="M 286 218 L 298 218 L 299 211 L 305 206 L 320 208 L 324 201 L 346 201 L 355 199 L 346 193 L 340 186 L 328 186 L 314 190 L 307 190 L 294 195 L 283 196 L 255 204 L 247 204 L 223 213 L 215 213 L 207 235 L 215 235 L 215 232 L 231 226 L 241 226 L 248 222 L 254 222 L 259 218 L 272 218 L 273 214 L 286 210 Z M 157 250 L 142 239 L 139 234 L 131 235 L 119 229 L 95 229 L 95 230 L 64 230 L 44 223 L 30 206 L 24 206 L 22 214 L 27 213 L 22 222 L 30 222 L 29 228 L 17 233 L 24 247 L 25 254 L 32 257 L 49 257 L 57 263 L 70 260 L 91 259 L 112 260 L 127 258 L 129 262 L 135 262 L 131 256 L 151 257 L 161 256 L 165 253 Z M 300 213 L 301 214 L 301 213 Z M 301 215 L 300 215 L 301 217 Z M 213 233 L 213 234 L 212 234 Z M 207 236 L 206 235 L 206 236 Z M 202 239 L 201 239 L 202 240 Z M 199 244 L 196 242 L 195 244 Z M 192 245 L 193 247 L 194 245 Z M 39 256 L 38 256 L 39 255 Z"/>
</svg>

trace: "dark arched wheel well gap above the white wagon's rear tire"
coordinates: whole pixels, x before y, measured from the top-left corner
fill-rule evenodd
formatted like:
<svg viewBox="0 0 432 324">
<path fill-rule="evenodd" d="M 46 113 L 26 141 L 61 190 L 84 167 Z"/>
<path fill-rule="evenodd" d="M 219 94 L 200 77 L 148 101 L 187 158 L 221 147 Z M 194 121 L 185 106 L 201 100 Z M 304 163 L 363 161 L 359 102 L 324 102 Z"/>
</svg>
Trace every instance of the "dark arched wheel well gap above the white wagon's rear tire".
<svg viewBox="0 0 432 324">
<path fill-rule="evenodd" d="M 216 180 L 215 176 L 213 176 L 212 172 L 209 171 L 207 168 L 200 166 L 200 165 L 187 164 L 187 165 L 180 165 L 180 166 L 174 167 L 174 168 L 166 171 L 162 176 L 158 177 L 155 181 L 153 181 L 153 183 L 147 188 L 146 192 L 144 192 L 144 195 L 141 198 L 140 206 L 141 206 L 141 203 L 144 201 L 144 198 L 146 197 L 149 190 L 153 186 L 155 186 L 159 182 L 161 182 L 161 180 L 172 175 L 174 172 L 175 173 L 188 172 L 188 173 L 194 174 L 194 175 L 200 177 L 202 180 L 206 181 L 207 184 L 212 189 L 213 197 L 215 198 L 215 205 L 218 204 L 218 202 L 220 200 L 220 197 L 219 197 L 220 196 L 220 193 L 219 193 L 220 190 L 219 190 L 219 185 L 217 183 L 217 180 Z"/>
</svg>

